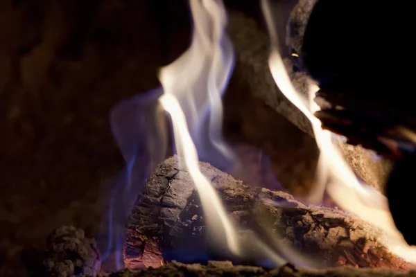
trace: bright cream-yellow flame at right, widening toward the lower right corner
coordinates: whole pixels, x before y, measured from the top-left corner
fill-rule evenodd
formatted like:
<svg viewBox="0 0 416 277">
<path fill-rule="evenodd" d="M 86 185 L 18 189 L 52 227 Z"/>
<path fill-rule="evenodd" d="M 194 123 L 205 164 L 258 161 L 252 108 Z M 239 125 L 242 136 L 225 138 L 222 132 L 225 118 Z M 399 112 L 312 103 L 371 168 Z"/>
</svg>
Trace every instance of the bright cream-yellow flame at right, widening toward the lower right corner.
<svg viewBox="0 0 416 277">
<path fill-rule="evenodd" d="M 360 216 L 363 220 L 378 226 L 388 234 L 388 240 L 383 242 L 392 253 L 416 263 L 416 249 L 410 247 L 404 240 L 401 233 L 397 230 L 392 215 L 388 209 L 387 199 L 378 191 L 365 184 L 360 184 L 354 172 L 344 161 L 336 143 L 339 137 L 323 130 L 320 120 L 313 116 L 319 109 L 313 102 L 313 96 L 319 87 L 311 82 L 309 86 L 309 99 L 302 97 L 293 87 L 291 79 L 286 71 L 284 62 L 279 54 L 279 39 L 275 20 L 272 16 L 269 0 L 261 1 L 261 8 L 268 25 L 272 51 L 269 57 L 269 66 L 272 77 L 277 87 L 284 93 L 304 115 L 311 121 L 315 139 L 320 148 L 320 161 L 318 163 L 318 184 L 315 195 L 311 199 L 317 201 L 322 197 L 324 190 L 339 204 L 345 211 L 350 211 Z"/>
</svg>

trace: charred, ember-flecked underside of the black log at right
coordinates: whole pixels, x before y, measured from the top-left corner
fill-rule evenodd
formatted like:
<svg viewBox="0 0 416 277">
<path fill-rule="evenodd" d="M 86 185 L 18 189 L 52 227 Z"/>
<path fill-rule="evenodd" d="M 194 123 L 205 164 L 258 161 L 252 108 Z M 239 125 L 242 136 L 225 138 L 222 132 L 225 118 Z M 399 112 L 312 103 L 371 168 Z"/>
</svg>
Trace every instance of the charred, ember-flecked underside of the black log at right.
<svg viewBox="0 0 416 277">
<path fill-rule="evenodd" d="M 347 137 L 349 144 L 363 145 L 394 160 L 416 148 L 403 132 L 404 126 L 414 132 L 415 120 L 388 105 L 335 88 L 320 89 L 315 102 L 322 109 L 315 113 L 322 127 Z"/>
</svg>

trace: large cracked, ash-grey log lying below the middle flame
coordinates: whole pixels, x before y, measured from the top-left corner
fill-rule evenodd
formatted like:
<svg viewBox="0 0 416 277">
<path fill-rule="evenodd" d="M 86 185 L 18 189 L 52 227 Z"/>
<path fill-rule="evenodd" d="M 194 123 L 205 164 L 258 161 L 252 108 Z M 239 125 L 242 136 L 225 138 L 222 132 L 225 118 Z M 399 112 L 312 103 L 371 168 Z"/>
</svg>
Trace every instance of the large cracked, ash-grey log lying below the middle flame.
<svg viewBox="0 0 416 277">
<path fill-rule="evenodd" d="M 412 267 L 384 246 L 388 236 L 383 231 L 355 215 L 305 206 L 287 193 L 252 188 L 208 163 L 200 163 L 200 170 L 218 191 L 230 220 L 241 227 L 241 238 L 268 229 L 274 235 L 262 233 L 263 242 L 273 245 L 283 256 L 285 250 L 279 246 L 295 247 L 309 259 L 319 257 L 324 267 Z M 276 236 L 280 237 L 278 241 Z M 139 195 L 128 219 L 125 267 L 137 270 L 159 267 L 171 260 L 206 261 L 211 253 L 206 242 L 207 226 L 198 193 L 189 172 L 177 157 L 171 157 L 150 175 L 146 192 Z M 215 258 L 230 257 L 225 254 Z"/>
</svg>

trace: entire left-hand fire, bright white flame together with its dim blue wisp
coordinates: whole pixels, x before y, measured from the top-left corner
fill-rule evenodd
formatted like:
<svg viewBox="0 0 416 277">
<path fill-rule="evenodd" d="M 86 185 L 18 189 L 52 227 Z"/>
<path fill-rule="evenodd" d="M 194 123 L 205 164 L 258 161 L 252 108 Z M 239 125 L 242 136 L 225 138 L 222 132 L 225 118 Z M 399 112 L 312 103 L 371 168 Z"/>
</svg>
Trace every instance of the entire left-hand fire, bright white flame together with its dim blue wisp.
<svg viewBox="0 0 416 277">
<path fill-rule="evenodd" d="M 250 243 L 239 243 L 216 190 L 200 171 L 199 159 L 225 171 L 235 169 L 230 168 L 236 165 L 234 153 L 221 134 L 221 96 L 234 66 L 234 50 L 225 35 L 227 15 L 223 1 L 189 0 L 189 4 L 194 27 L 191 46 L 175 62 L 161 69 L 162 88 L 126 100 L 112 112 L 114 137 L 127 167 L 112 192 L 108 235 L 105 232 L 103 235 L 104 239 L 107 236 L 111 239 L 105 253 L 111 258 L 114 249 L 119 249 L 122 242 L 119 233 L 123 229 L 119 223 L 125 222 L 142 189 L 137 184 L 145 183 L 144 178 L 166 154 L 167 132 L 162 109 L 171 116 L 175 150 L 198 190 L 210 238 L 228 247 L 234 256 L 263 259 L 258 256 L 263 253 L 267 262 L 284 265 L 286 260 L 255 234 L 249 239 L 243 238 Z M 257 256 L 252 257 L 252 253 Z M 116 255 L 114 259 L 116 269 L 121 268 L 122 257 Z"/>
</svg>

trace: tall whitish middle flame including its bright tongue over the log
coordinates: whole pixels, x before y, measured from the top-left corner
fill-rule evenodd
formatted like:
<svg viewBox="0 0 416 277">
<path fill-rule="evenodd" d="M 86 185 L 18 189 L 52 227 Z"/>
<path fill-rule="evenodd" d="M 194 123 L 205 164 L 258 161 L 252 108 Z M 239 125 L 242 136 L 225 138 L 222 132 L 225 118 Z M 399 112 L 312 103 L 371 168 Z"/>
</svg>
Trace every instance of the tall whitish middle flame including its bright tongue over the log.
<svg viewBox="0 0 416 277">
<path fill-rule="evenodd" d="M 213 160 L 213 154 L 228 161 L 234 157 L 221 137 L 221 95 L 234 65 L 232 44 L 224 34 L 227 16 L 220 0 L 189 3 L 194 24 L 192 43 L 175 62 L 161 69 L 164 95 L 159 102 L 171 116 L 177 154 L 196 185 L 208 226 L 216 238 L 223 240 L 225 234 L 228 248 L 238 255 L 234 226 L 198 163 L 198 154 L 205 161 Z"/>
</svg>

